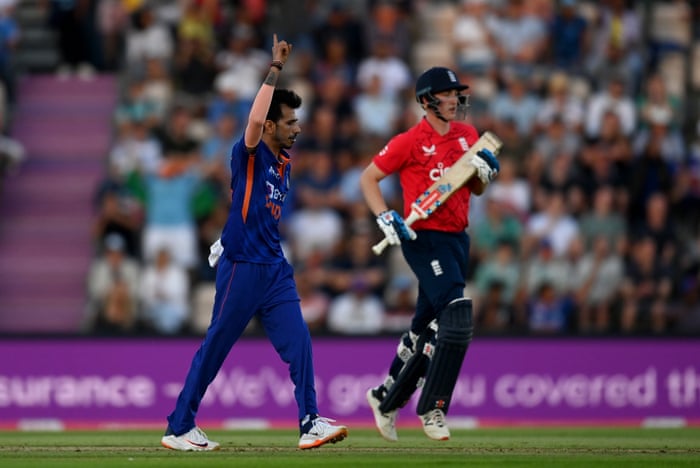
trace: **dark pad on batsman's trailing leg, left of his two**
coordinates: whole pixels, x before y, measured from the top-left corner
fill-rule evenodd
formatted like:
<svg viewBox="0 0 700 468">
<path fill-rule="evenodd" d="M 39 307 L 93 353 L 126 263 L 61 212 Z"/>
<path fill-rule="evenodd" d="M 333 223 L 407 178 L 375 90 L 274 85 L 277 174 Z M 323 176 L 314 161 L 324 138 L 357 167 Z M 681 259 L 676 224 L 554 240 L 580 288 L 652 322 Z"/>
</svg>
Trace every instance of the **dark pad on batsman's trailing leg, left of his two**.
<svg viewBox="0 0 700 468">
<path fill-rule="evenodd" d="M 399 345 L 397 355 L 408 359 L 406 359 L 403 368 L 398 376 L 395 377 L 393 385 L 389 387 L 381 405 L 379 405 L 379 409 L 382 412 L 388 413 L 405 406 L 420 386 L 420 380 L 425 376 L 433 355 L 436 333 L 437 323 L 433 320 L 428 325 L 428 328 L 418 337 L 413 353 L 408 354 L 405 349 L 402 353 L 402 345 Z"/>
</svg>

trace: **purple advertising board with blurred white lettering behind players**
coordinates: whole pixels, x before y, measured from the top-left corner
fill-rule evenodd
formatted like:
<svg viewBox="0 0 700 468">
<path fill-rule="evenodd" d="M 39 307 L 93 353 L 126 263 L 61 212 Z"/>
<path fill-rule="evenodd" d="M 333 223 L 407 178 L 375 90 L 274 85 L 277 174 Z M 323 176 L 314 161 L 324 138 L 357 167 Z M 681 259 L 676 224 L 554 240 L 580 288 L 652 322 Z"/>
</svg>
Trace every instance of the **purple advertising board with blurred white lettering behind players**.
<svg viewBox="0 0 700 468">
<path fill-rule="evenodd" d="M 4 340 L 0 426 L 164 424 L 199 340 Z M 369 424 L 366 389 L 383 379 L 393 339 L 316 338 L 324 415 Z M 412 405 L 415 404 L 415 398 Z M 404 411 L 402 424 L 417 418 Z M 265 340 L 234 347 L 199 421 L 293 424 L 285 366 Z M 480 424 L 700 422 L 700 340 L 477 339 L 450 418 Z M 415 420 L 415 421 L 414 421 Z"/>
</svg>

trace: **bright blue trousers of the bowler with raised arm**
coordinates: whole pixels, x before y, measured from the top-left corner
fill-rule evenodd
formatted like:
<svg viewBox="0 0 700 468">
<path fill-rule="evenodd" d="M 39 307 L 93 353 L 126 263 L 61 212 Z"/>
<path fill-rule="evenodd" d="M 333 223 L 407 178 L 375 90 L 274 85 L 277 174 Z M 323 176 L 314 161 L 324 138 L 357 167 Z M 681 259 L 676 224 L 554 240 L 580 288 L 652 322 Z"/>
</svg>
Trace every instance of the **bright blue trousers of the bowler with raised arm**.
<svg viewBox="0 0 700 468">
<path fill-rule="evenodd" d="M 298 418 L 317 414 L 311 337 L 301 315 L 292 267 L 233 263 L 222 256 L 216 272 L 211 324 L 197 350 L 168 424 L 175 435 L 195 426 L 209 384 L 246 326 L 257 315 L 282 361 L 289 365 Z"/>
</svg>

